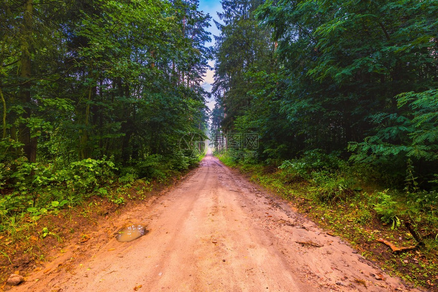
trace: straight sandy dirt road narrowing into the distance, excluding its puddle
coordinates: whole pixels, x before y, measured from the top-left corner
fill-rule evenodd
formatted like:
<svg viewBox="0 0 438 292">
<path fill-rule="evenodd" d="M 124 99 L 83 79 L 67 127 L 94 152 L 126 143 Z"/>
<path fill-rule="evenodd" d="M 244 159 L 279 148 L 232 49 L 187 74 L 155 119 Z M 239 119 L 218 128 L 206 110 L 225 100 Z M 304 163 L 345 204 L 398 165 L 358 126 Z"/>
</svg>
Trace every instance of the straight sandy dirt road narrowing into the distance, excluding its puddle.
<svg viewBox="0 0 438 292">
<path fill-rule="evenodd" d="M 114 232 L 130 223 L 150 232 L 117 242 Z M 97 228 L 11 290 L 409 290 L 212 156 L 173 190 Z"/>
</svg>

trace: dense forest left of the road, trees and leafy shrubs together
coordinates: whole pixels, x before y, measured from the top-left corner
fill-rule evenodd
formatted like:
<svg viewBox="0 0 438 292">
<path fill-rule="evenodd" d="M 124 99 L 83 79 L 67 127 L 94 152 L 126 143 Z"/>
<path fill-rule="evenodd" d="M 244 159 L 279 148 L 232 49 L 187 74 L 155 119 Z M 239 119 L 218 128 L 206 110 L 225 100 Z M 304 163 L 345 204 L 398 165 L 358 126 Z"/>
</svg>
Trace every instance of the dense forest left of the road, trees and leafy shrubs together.
<svg viewBox="0 0 438 292">
<path fill-rule="evenodd" d="M 1 228 L 197 162 L 178 147 L 208 119 L 210 16 L 197 0 L 0 7 Z"/>
</svg>

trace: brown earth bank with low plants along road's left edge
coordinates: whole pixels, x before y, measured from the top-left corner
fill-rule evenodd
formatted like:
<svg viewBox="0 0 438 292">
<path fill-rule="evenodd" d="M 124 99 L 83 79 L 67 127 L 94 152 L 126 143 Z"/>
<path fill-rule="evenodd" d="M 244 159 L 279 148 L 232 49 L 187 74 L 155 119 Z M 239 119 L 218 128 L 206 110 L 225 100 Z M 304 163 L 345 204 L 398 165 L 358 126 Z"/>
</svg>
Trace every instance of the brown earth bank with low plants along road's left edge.
<svg viewBox="0 0 438 292">
<path fill-rule="evenodd" d="M 100 222 L 117 219 L 125 210 L 144 204 L 162 190 L 171 187 L 190 169 L 196 167 L 202 156 L 192 156 L 186 170 L 170 170 L 169 164 L 156 166 L 158 176 L 135 178 L 129 174 L 95 177 L 105 183 L 88 185 L 85 192 L 66 192 L 66 186 L 46 185 L 40 190 L 39 203 L 32 209 L 19 209 L 15 216 L 3 217 L 0 233 L 2 257 L 0 258 L 0 279 L 10 274 L 27 274 L 41 270 L 48 257 L 64 253 L 69 244 L 81 245 L 91 238 Z M 89 164 L 86 172 L 97 170 Z M 109 174 L 109 172 L 107 173 Z M 86 187 L 81 183 L 81 187 Z M 11 191 L 6 189 L 6 192 Z M 8 193 L 6 193 L 8 194 Z M 54 194 L 60 196 L 58 201 Z M 9 195 L 7 195 L 9 196 Z M 24 202 L 30 197 L 21 196 Z M 67 198 L 62 199 L 61 198 Z M 24 204 L 23 204 L 24 205 Z"/>
</svg>

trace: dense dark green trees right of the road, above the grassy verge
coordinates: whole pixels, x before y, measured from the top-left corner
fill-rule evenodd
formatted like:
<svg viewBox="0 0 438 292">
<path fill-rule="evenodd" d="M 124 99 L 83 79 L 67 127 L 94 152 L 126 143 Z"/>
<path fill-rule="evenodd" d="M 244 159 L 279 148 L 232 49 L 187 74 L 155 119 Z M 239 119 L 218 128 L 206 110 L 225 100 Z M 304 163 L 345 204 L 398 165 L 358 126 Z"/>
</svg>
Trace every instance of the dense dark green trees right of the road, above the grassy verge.
<svg viewBox="0 0 438 292">
<path fill-rule="evenodd" d="M 257 132 L 259 160 L 318 149 L 435 188 L 436 1 L 222 3 L 214 130 Z"/>
</svg>

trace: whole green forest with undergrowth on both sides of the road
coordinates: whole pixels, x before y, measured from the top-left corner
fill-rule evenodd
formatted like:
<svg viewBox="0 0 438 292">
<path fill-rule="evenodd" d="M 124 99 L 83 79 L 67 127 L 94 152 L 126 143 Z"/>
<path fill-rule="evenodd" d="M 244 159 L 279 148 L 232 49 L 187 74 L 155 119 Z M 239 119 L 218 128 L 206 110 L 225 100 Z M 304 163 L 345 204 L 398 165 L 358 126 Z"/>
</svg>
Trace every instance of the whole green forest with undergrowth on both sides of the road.
<svg viewBox="0 0 438 292">
<path fill-rule="evenodd" d="M 1 0 L 0 238 L 196 167 L 187 133 L 256 134 L 257 149 L 215 155 L 315 214 L 408 228 L 433 261 L 426 285 L 438 275 L 438 2 L 221 4 L 214 20 L 198 0 Z"/>
</svg>

